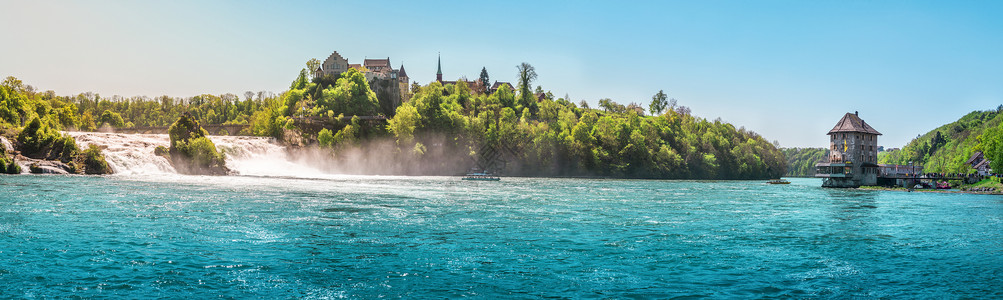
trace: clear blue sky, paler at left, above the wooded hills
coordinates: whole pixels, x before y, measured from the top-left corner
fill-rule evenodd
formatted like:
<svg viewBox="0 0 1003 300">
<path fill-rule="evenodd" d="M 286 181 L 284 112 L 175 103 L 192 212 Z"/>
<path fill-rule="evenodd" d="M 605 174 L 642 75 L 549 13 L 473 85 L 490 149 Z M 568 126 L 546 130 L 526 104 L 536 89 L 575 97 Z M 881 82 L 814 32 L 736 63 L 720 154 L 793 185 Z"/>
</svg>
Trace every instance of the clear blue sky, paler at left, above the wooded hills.
<svg viewBox="0 0 1003 300">
<path fill-rule="evenodd" d="M 287 3 L 289 2 L 289 3 Z M 7 1 L 0 76 L 58 94 L 281 92 L 312 57 L 390 57 L 422 84 L 537 84 L 647 106 L 659 89 L 783 146 L 859 110 L 902 146 L 1003 104 L 1003 1 Z"/>
</svg>

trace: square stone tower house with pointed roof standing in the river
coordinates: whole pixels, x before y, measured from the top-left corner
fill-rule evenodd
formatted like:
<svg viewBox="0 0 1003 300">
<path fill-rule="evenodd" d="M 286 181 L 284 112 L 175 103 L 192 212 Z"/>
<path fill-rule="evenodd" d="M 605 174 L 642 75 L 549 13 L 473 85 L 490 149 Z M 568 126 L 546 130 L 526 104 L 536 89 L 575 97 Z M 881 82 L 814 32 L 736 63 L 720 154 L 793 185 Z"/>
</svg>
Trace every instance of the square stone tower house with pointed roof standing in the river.
<svg viewBox="0 0 1003 300">
<path fill-rule="evenodd" d="M 828 163 L 815 165 L 815 177 L 825 188 L 857 188 L 878 184 L 878 135 L 858 112 L 848 112 L 828 130 Z"/>
</svg>

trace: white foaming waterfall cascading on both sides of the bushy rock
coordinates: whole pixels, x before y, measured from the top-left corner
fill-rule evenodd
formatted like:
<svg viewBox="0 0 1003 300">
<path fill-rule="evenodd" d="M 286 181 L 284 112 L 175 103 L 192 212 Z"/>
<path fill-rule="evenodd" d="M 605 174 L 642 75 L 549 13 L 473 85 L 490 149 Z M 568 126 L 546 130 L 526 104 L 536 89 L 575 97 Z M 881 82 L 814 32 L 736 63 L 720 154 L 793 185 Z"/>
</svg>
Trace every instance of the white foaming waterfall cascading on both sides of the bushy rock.
<svg viewBox="0 0 1003 300">
<path fill-rule="evenodd" d="M 157 145 L 171 146 L 168 134 L 126 134 L 103 132 L 66 132 L 76 138 L 80 148 L 96 144 L 103 149 L 108 166 L 116 175 L 177 174 L 171 163 L 157 157 Z M 227 167 L 245 176 L 316 177 L 322 172 L 293 162 L 284 146 L 273 138 L 258 136 L 210 136 L 217 148 L 227 156 Z"/>
</svg>

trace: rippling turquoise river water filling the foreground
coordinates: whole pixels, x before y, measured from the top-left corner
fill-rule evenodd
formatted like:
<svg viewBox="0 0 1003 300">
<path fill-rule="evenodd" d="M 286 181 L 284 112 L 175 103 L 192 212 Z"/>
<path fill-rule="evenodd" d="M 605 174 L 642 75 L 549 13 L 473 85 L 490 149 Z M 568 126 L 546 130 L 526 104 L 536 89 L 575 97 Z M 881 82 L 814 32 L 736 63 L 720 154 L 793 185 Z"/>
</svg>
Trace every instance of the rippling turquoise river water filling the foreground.
<svg viewBox="0 0 1003 300">
<path fill-rule="evenodd" d="M 2 177 L 0 296 L 1003 296 L 1001 198 L 792 182 Z"/>
</svg>

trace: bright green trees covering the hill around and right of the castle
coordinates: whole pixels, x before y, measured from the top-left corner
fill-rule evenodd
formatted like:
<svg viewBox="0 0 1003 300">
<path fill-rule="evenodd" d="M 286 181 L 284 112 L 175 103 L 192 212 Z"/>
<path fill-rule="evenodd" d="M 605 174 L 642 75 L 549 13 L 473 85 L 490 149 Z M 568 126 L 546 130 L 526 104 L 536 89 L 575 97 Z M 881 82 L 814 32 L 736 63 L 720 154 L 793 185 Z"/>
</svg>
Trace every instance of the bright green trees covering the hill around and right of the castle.
<svg viewBox="0 0 1003 300">
<path fill-rule="evenodd" d="M 331 80 L 308 80 L 305 72 L 289 91 L 252 117 L 256 134 L 314 140 L 335 153 L 374 138 L 391 138 L 394 162 L 404 173 L 442 170 L 442 165 L 491 166 L 487 153 L 501 153 L 507 175 L 597 176 L 652 179 L 763 179 L 784 174 L 776 146 L 755 132 L 720 120 L 695 117 L 664 92 L 652 97 L 655 116 L 638 104 L 600 99 L 600 107 L 575 104 L 531 88 L 532 65 L 518 68 L 518 86 L 475 92 L 462 80 L 414 87 L 386 125 L 342 121 L 340 129 L 312 132 L 297 117 L 344 120 L 343 115 L 379 111 L 379 101 L 363 74 L 349 70 Z M 267 115 L 268 117 L 258 117 Z M 443 138 L 445 136 L 446 138 Z M 453 154 L 451 162 L 425 160 L 431 153 Z"/>
</svg>

